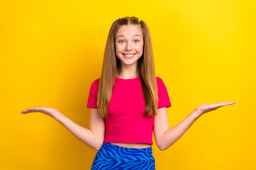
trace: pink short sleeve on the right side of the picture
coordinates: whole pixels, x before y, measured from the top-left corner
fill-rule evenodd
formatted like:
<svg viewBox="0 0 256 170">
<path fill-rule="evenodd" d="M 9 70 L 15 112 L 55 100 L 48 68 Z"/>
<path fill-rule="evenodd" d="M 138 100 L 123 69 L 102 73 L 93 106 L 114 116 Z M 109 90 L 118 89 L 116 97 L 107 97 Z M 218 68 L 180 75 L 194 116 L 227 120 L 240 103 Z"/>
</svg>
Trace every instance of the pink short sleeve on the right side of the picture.
<svg viewBox="0 0 256 170">
<path fill-rule="evenodd" d="M 156 77 L 156 81 L 157 81 L 157 89 L 158 89 L 158 97 L 159 97 L 157 109 L 171 107 L 171 101 L 170 101 L 166 86 L 164 84 L 164 81 L 160 77 Z"/>
</svg>

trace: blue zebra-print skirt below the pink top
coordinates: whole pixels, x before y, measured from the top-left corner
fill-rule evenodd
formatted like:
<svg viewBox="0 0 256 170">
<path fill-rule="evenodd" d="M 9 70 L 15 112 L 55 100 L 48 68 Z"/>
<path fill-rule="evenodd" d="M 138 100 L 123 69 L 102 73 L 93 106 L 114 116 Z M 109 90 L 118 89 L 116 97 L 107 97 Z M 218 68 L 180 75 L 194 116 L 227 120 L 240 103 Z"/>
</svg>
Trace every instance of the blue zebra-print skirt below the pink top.
<svg viewBox="0 0 256 170">
<path fill-rule="evenodd" d="M 119 147 L 112 143 L 103 143 L 93 159 L 91 170 L 155 170 L 152 147 Z"/>
</svg>

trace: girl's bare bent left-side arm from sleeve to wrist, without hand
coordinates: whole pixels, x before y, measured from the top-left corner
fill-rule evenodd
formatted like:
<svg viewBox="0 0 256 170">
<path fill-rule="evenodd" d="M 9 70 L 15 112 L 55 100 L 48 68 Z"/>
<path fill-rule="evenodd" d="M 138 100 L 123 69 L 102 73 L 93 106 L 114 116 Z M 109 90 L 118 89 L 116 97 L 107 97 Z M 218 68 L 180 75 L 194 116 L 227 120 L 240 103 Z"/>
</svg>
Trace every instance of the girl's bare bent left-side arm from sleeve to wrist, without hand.
<svg viewBox="0 0 256 170">
<path fill-rule="evenodd" d="M 85 145 L 95 150 L 99 150 L 102 146 L 105 136 L 105 120 L 100 115 L 98 109 L 91 108 L 90 129 L 83 128 L 74 123 L 60 112 L 55 112 L 52 117 L 67 128 L 75 137 L 84 142 Z"/>
</svg>

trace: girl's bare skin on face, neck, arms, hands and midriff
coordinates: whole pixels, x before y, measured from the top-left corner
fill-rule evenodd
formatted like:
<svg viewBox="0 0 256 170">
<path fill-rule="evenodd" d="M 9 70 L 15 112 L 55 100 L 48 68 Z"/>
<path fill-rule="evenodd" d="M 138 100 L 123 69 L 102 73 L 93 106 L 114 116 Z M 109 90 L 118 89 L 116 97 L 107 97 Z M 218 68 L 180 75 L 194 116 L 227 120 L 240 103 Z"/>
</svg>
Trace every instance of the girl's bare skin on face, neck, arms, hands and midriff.
<svg viewBox="0 0 256 170">
<path fill-rule="evenodd" d="M 118 37 L 122 35 L 122 37 Z M 134 36 L 140 35 L 140 36 Z M 143 54 L 143 36 L 142 28 L 140 26 L 122 26 L 117 31 L 115 47 L 116 55 L 121 60 L 121 71 L 117 74 L 117 77 L 122 79 L 132 79 L 134 77 L 139 77 L 139 72 L 137 70 L 137 62 Z M 130 59 L 127 59 L 122 55 L 122 53 L 136 53 L 136 55 Z M 156 145 L 162 151 L 174 145 L 174 143 L 191 127 L 191 125 L 201 117 L 201 115 L 208 113 L 210 111 L 215 111 L 216 109 L 233 105 L 235 101 L 223 101 L 218 103 L 204 103 L 196 107 L 196 109 L 190 113 L 186 118 L 184 118 L 178 125 L 170 128 L 169 127 L 169 117 L 166 108 L 159 108 L 157 110 L 157 115 L 154 115 L 154 137 L 156 140 Z M 94 149 L 100 149 L 102 146 L 102 141 L 104 137 L 104 124 L 100 114 L 97 113 L 97 109 L 92 110 L 95 117 L 92 117 L 92 123 L 97 122 L 97 126 L 101 125 L 97 130 L 88 130 L 86 128 L 77 125 L 72 120 L 68 119 L 58 111 L 57 108 L 46 108 L 44 106 L 38 106 L 34 108 L 28 108 L 21 111 L 21 114 L 40 112 L 50 117 L 58 120 L 61 124 L 65 126 L 75 137 L 79 140 L 85 142 L 86 145 Z M 97 114 L 96 114 L 97 113 Z M 95 142 L 95 141 L 101 142 Z M 130 148 L 145 148 L 151 147 L 150 144 L 146 143 L 112 143 L 121 147 Z"/>
</svg>

